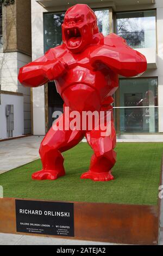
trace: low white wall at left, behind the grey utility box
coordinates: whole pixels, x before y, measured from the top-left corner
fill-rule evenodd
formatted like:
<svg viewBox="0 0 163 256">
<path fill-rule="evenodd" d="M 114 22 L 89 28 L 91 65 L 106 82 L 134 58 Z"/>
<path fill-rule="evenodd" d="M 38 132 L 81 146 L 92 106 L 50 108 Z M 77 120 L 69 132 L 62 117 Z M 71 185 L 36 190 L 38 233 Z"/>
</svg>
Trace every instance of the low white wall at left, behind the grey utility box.
<svg viewBox="0 0 163 256">
<path fill-rule="evenodd" d="M 0 105 L 0 139 L 5 139 L 7 135 L 7 118 L 5 115 L 6 105 L 14 105 L 14 131 L 13 136 L 21 136 L 24 133 L 23 96 L 1 94 Z"/>
</svg>

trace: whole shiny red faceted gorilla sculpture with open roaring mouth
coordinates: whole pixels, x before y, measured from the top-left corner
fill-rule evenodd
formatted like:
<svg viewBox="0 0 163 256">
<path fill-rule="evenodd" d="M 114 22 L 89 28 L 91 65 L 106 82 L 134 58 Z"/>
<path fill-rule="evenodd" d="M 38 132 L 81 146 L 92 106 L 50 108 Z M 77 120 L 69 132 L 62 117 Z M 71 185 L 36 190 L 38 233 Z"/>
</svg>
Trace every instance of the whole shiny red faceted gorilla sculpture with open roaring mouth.
<svg viewBox="0 0 163 256">
<path fill-rule="evenodd" d="M 45 56 L 20 69 L 19 81 L 28 87 L 38 87 L 55 80 L 57 90 L 70 111 L 110 111 L 111 133 L 101 130 L 54 130 L 40 147 L 43 169 L 33 179 L 55 180 L 65 175 L 62 152 L 77 145 L 86 136 L 94 151 L 88 172 L 82 179 L 108 181 L 114 179 L 111 168 L 116 162 L 116 132 L 112 114 L 112 94 L 118 88 L 118 74 L 136 76 L 147 68 L 146 58 L 127 46 L 116 34 L 104 36 L 98 32 L 97 17 L 86 4 L 67 10 L 62 24 L 63 44 L 46 52 Z M 65 121 L 62 114 L 56 121 Z"/>
</svg>

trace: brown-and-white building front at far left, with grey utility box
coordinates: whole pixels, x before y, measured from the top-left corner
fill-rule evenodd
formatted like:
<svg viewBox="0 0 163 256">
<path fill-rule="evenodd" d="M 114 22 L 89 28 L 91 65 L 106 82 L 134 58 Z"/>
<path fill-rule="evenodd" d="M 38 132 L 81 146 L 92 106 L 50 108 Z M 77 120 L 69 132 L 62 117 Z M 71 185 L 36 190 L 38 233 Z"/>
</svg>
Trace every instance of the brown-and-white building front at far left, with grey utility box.
<svg viewBox="0 0 163 256">
<path fill-rule="evenodd" d="M 31 3 L 30 0 L 3 2 L 0 8 L 0 139 L 31 133 L 30 88 L 22 87 L 17 80 L 21 66 L 32 60 Z"/>
</svg>

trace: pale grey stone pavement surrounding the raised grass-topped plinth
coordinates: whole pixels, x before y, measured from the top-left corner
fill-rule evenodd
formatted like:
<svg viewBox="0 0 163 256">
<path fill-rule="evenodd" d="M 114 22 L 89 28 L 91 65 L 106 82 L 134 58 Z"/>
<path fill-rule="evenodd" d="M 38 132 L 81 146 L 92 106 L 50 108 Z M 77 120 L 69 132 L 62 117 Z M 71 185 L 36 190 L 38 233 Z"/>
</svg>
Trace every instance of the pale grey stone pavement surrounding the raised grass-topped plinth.
<svg viewBox="0 0 163 256">
<path fill-rule="evenodd" d="M 39 159 L 42 139 L 43 136 L 29 136 L 0 142 L 0 174 Z M 161 200 L 160 227 L 159 245 L 163 245 L 163 199 Z M 0 245 L 114 245 L 114 243 L 0 233 Z"/>
</svg>

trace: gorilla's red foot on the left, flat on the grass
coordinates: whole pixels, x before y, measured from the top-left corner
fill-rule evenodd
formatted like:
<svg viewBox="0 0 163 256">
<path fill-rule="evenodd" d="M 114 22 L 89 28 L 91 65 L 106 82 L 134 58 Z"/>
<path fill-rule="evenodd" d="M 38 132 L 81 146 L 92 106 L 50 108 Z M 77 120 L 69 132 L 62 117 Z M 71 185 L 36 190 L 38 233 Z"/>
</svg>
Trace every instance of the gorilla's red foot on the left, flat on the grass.
<svg viewBox="0 0 163 256">
<path fill-rule="evenodd" d="M 40 170 L 32 174 L 33 180 L 57 180 L 59 177 L 64 176 L 65 171 L 59 172 L 57 170 Z"/>
</svg>

